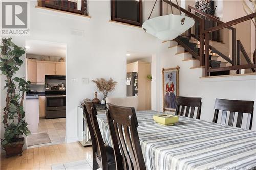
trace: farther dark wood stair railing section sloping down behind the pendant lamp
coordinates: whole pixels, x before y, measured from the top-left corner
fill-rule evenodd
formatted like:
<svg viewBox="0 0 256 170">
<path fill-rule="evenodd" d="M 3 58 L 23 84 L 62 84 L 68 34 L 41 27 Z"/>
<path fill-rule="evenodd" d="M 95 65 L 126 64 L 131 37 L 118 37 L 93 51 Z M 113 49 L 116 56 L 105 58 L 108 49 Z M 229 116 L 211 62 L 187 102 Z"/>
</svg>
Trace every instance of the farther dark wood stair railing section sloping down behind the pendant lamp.
<svg viewBox="0 0 256 170">
<path fill-rule="evenodd" d="M 170 2 L 168 0 L 160 0 L 160 15 L 163 15 L 163 2 L 172 5 L 172 7 L 181 10 L 181 12 L 183 12 L 184 14 L 186 14 L 187 16 L 193 18 L 195 21 L 197 21 L 199 23 L 199 41 L 200 41 L 200 50 L 199 50 L 199 55 L 196 54 L 189 46 L 187 46 L 186 44 L 182 43 L 178 38 L 176 38 L 175 40 L 181 44 L 186 51 L 188 51 L 189 53 L 191 53 L 195 58 L 197 58 L 200 61 L 200 66 L 204 65 L 204 21 L 202 18 L 200 18 L 199 16 L 187 11 L 186 9 L 182 8 L 182 7 L 178 7 L 177 4 Z M 191 31 L 189 31 L 190 33 Z M 190 35 L 189 35 L 190 36 Z"/>
</svg>

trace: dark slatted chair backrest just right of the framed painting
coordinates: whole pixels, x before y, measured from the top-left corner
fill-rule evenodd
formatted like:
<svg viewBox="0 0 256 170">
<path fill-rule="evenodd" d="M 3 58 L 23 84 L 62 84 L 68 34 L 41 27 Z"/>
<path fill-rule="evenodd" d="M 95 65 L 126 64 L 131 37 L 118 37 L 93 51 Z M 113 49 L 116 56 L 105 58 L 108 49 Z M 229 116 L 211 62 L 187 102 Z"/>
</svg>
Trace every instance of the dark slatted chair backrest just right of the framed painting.
<svg viewBox="0 0 256 170">
<path fill-rule="evenodd" d="M 185 117 L 190 117 L 193 118 L 194 117 L 194 112 L 195 112 L 195 108 L 197 108 L 197 119 L 200 119 L 201 116 L 201 106 L 202 106 L 202 102 L 201 102 L 202 98 L 190 98 L 190 97 L 181 97 L 178 96 L 177 98 L 177 106 L 176 106 L 176 115 L 181 115 L 181 116 L 185 116 Z M 180 110 L 181 107 L 181 110 Z M 186 112 L 185 111 L 185 107 L 186 107 Z M 189 115 L 189 110 L 191 107 L 191 111 L 190 111 L 190 115 Z"/>
</svg>

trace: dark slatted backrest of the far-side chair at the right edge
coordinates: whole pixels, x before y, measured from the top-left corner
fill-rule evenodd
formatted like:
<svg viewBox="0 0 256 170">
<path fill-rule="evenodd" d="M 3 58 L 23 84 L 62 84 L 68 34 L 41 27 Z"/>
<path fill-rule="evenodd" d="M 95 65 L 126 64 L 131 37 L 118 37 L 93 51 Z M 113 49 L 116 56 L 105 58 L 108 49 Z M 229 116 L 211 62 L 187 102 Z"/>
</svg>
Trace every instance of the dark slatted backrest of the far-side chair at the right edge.
<svg viewBox="0 0 256 170">
<path fill-rule="evenodd" d="M 220 123 L 224 124 L 224 125 L 226 124 L 227 113 L 229 112 L 228 125 L 233 126 L 235 115 L 237 112 L 238 114 L 237 114 L 236 127 L 241 128 L 243 114 L 248 113 L 247 121 L 250 122 L 249 129 L 251 129 L 252 116 L 253 116 L 253 105 L 254 105 L 254 101 L 216 99 L 215 106 L 214 106 L 214 109 L 215 109 L 214 119 L 212 120 L 212 122 L 217 123 L 219 110 L 222 110 Z M 251 116 L 249 116 L 249 115 L 251 115 Z M 249 120 L 249 118 L 250 118 L 250 120 Z M 248 122 L 247 122 L 247 127 L 248 127 Z"/>
</svg>

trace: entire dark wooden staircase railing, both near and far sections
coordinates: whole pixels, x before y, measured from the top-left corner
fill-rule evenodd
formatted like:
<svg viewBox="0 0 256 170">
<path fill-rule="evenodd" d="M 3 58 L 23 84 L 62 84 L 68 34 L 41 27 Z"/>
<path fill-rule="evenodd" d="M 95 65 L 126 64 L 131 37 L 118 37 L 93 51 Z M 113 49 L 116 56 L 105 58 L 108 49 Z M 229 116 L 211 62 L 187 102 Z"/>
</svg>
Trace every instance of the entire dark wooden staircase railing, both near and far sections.
<svg viewBox="0 0 256 170">
<path fill-rule="evenodd" d="M 172 3 L 168 0 L 160 0 L 160 15 L 163 15 L 163 2 L 172 5 L 172 7 L 179 9 L 178 5 L 175 3 Z M 180 7 L 180 10 L 185 13 L 187 16 L 193 18 L 199 23 L 199 36 L 196 34 L 191 34 L 191 28 L 188 31 L 188 39 L 191 39 L 191 37 L 195 38 L 197 41 L 199 41 L 199 54 L 197 51 L 195 51 L 195 48 L 191 47 L 191 43 L 187 43 L 186 41 L 182 40 L 182 36 L 178 36 L 176 39 L 174 39 L 179 45 L 181 45 L 185 51 L 189 52 L 194 58 L 198 59 L 200 61 L 200 66 L 205 66 L 205 76 L 209 76 L 210 72 L 222 72 L 222 71 L 230 71 L 230 70 L 238 70 L 237 73 L 239 74 L 239 70 L 241 69 L 252 69 L 253 72 L 255 72 L 256 65 L 251 62 L 251 59 L 245 52 L 245 49 L 243 45 L 241 44 L 240 40 L 236 40 L 236 28 L 232 27 L 233 25 L 236 25 L 238 23 L 250 20 L 254 17 L 256 17 L 256 13 L 247 15 L 245 17 L 241 17 L 239 19 L 235 19 L 233 21 L 224 23 L 217 19 L 214 16 L 211 16 L 209 14 L 206 14 L 192 6 L 188 6 L 189 11 L 187 11 L 184 8 Z M 193 13 L 195 12 L 195 14 Z M 203 17 L 200 17 L 203 16 Z M 205 19 L 211 20 L 217 23 L 217 26 L 212 27 L 212 28 L 205 28 Z M 221 53 L 218 49 L 210 45 L 210 33 L 214 31 L 220 31 L 221 29 L 229 29 L 232 32 L 231 36 L 231 52 L 232 56 L 231 59 Z M 205 48 L 204 48 L 205 47 Z M 229 62 L 232 66 L 229 67 L 221 67 L 221 68 L 210 68 L 209 67 L 209 55 L 210 51 L 212 53 L 218 54 L 220 57 L 222 57 L 224 60 Z M 240 58 L 241 58 L 241 53 L 245 57 L 246 61 L 248 64 L 241 65 L 240 63 Z M 229 74 L 229 73 L 228 73 Z M 212 74 L 213 75 L 213 74 Z"/>
</svg>

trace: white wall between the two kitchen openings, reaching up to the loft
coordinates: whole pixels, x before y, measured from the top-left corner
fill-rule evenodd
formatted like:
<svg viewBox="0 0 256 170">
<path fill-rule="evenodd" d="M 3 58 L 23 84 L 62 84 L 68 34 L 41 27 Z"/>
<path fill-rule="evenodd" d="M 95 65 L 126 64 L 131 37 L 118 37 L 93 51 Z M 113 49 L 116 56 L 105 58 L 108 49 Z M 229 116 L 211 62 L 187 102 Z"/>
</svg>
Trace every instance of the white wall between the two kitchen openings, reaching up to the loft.
<svg viewBox="0 0 256 170">
<path fill-rule="evenodd" d="M 77 141 L 77 105 L 84 98 L 94 98 L 95 85 L 82 85 L 81 79 L 112 77 L 118 82 L 116 90 L 109 95 L 126 95 L 126 52 L 137 51 L 154 54 L 155 42 L 152 36 L 140 28 L 110 23 L 110 1 L 89 1 L 90 20 L 35 8 L 37 1 L 31 2 L 31 35 L 16 36 L 13 41 L 25 46 L 26 40 L 42 40 L 67 45 L 67 107 L 66 140 Z M 83 36 L 72 35 L 79 30 Z M 46 49 L 47 50 L 47 49 Z M 23 61 L 25 57 L 23 57 Z M 25 76 L 25 64 L 19 71 Z M 1 89 L 4 86 L 1 76 Z M 102 98 L 102 95 L 99 95 Z M 1 91 L 1 108 L 5 91 Z M 3 128 L 2 128 L 3 131 Z"/>
</svg>

